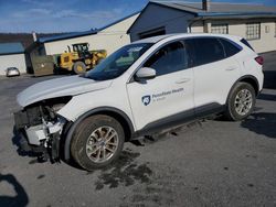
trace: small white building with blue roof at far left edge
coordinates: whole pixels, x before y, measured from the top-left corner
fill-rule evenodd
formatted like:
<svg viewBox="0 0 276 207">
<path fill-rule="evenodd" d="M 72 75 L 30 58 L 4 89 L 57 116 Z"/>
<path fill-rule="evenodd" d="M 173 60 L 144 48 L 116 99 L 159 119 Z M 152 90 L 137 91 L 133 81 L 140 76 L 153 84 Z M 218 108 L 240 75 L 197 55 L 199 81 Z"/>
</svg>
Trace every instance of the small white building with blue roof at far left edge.
<svg viewBox="0 0 276 207">
<path fill-rule="evenodd" d="M 6 75 L 8 67 L 17 67 L 21 74 L 25 73 L 25 55 L 21 43 L 0 44 L 0 75 Z"/>
</svg>

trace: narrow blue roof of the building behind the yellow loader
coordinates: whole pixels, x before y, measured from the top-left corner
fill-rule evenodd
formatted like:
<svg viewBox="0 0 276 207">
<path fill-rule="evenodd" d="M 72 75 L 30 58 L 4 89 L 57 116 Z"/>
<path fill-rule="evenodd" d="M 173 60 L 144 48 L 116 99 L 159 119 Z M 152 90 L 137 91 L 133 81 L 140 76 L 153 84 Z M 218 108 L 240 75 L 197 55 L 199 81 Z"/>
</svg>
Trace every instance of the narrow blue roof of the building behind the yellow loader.
<svg viewBox="0 0 276 207">
<path fill-rule="evenodd" d="M 128 18 L 131 18 L 136 14 L 140 13 L 140 11 L 131 13 L 123 19 L 119 19 L 110 24 L 107 24 L 100 29 L 96 29 L 96 30 L 89 30 L 89 31 L 84 31 L 84 32 L 72 32 L 72 33 L 67 33 L 67 34 L 62 34 L 62 35 L 54 35 L 54 36 L 46 36 L 46 37 L 41 37 L 38 40 L 38 42 L 40 43 L 47 43 L 47 42 L 55 42 L 55 41 L 61 41 L 61 40 L 67 40 L 67 39 L 75 39 L 75 37 L 81 37 L 81 36 L 87 36 L 87 35 L 93 35 L 93 34 L 97 34 L 98 32 L 110 28 Z"/>
</svg>

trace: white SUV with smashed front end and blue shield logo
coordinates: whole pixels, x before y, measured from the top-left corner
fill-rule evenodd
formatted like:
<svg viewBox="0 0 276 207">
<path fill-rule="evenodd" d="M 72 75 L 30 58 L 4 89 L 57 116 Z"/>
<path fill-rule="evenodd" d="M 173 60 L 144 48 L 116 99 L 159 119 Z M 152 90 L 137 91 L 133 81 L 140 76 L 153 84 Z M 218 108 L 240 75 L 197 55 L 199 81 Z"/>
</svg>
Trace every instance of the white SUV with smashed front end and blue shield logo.
<svg viewBox="0 0 276 207">
<path fill-rule="evenodd" d="M 18 95 L 24 150 L 93 170 L 124 142 L 212 113 L 246 118 L 263 87 L 263 58 L 237 36 L 171 34 L 126 45 L 93 70 Z M 25 140 L 25 141 L 24 141 Z"/>
</svg>

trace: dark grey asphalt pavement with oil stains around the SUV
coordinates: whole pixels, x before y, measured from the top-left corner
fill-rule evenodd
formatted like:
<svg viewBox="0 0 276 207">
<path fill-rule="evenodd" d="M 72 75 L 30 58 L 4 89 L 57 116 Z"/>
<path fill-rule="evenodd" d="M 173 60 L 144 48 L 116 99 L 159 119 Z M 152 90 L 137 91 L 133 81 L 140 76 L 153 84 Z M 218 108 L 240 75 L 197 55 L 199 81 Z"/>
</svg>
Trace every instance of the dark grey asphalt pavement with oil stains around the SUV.
<svg viewBox="0 0 276 207">
<path fill-rule="evenodd" d="M 18 152 L 15 95 L 59 76 L 1 77 L 0 206 L 276 206 L 276 52 L 264 57 L 264 90 L 247 120 L 127 143 L 117 163 L 91 173 Z"/>
</svg>

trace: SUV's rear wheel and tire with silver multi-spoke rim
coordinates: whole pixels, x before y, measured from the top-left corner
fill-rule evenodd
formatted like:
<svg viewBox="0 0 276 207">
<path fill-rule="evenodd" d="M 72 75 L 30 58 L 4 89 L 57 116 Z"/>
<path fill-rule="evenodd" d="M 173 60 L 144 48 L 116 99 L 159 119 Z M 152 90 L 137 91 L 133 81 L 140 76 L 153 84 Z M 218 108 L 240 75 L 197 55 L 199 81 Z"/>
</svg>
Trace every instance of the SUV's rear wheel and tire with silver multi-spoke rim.
<svg viewBox="0 0 276 207">
<path fill-rule="evenodd" d="M 231 90 L 224 117 L 231 121 L 246 119 L 254 110 L 256 94 L 252 85 L 237 83 Z"/>
</svg>

